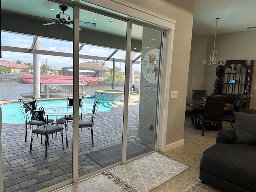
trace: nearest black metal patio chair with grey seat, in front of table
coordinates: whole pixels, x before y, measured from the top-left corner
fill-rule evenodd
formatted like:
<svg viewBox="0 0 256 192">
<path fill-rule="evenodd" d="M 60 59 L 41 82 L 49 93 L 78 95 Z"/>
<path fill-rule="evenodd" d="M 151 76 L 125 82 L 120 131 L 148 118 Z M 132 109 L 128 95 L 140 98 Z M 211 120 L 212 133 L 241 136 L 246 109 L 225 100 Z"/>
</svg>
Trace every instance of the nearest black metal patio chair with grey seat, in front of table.
<svg viewBox="0 0 256 192">
<path fill-rule="evenodd" d="M 49 146 L 49 136 L 50 134 L 54 134 L 59 132 L 62 136 L 62 149 L 64 149 L 64 143 L 63 143 L 63 127 L 53 125 L 53 124 L 47 124 L 48 122 L 48 116 L 46 116 L 44 112 L 44 108 L 41 106 L 39 110 L 30 110 L 30 115 L 32 121 L 38 121 L 42 122 L 42 126 L 33 129 L 33 124 L 32 124 L 32 136 L 31 136 L 31 141 L 30 141 L 30 153 L 32 152 L 32 142 L 35 134 L 40 134 L 41 138 L 42 135 L 45 136 L 45 156 L 47 155 L 47 146 Z M 41 140 L 42 144 L 42 140 Z"/>
</svg>

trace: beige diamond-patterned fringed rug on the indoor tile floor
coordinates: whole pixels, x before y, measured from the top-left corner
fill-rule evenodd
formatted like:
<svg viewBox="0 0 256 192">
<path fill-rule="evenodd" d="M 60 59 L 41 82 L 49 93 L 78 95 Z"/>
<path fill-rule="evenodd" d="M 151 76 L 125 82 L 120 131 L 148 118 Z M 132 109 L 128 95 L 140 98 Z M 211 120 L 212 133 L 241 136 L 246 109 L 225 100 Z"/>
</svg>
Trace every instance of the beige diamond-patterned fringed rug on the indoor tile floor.
<svg viewBox="0 0 256 192">
<path fill-rule="evenodd" d="M 189 167 L 166 154 L 154 152 L 103 174 L 128 192 L 149 192 Z"/>
</svg>

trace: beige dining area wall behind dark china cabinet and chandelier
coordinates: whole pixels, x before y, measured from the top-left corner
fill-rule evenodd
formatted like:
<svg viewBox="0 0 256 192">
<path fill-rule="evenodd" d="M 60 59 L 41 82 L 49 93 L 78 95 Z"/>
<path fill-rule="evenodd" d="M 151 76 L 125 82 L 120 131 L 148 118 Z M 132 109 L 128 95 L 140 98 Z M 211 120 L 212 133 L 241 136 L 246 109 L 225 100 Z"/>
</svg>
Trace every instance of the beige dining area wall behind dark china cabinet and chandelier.
<svg viewBox="0 0 256 192">
<path fill-rule="evenodd" d="M 192 42 L 196 41 L 198 38 L 200 37 L 193 36 Z M 204 37 L 202 37 L 202 39 L 203 38 Z M 202 44 L 205 44 L 205 42 L 208 42 L 206 58 L 209 59 L 210 50 L 213 48 L 214 44 L 214 36 L 208 36 L 208 39 L 204 39 Z M 201 45 L 198 44 L 194 48 L 200 50 Z M 254 60 L 254 62 L 256 62 L 256 30 L 217 35 L 215 49 L 217 50 L 217 60 L 224 61 L 224 64 L 226 60 L 246 60 L 246 64 L 250 65 L 250 60 Z M 196 54 L 194 55 L 196 56 Z M 191 58 L 193 58 L 193 56 Z M 193 68 L 200 65 L 192 59 L 190 60 L 190 64 L 193 66 Z M 213 86 L 216 80 L 216 66 L 206 65 L 205 67 L 201 67 L 204 68 L 203 88 L 207 90 L 207 94 L 210 94 L 213 92 Z M 201 76 L 201 70 L 196 73 L 193 72 L 193 75 L 190 76 L 189 81 L 192 81 L 192 87 L 198 86 L 198 84 L 193 81 L 194 76 Z M 253 69 L 250 94 L 252 95 L 250 100 L 250 108 L 256 109 L 256 66 L 254 66 Z"/>
</svg>

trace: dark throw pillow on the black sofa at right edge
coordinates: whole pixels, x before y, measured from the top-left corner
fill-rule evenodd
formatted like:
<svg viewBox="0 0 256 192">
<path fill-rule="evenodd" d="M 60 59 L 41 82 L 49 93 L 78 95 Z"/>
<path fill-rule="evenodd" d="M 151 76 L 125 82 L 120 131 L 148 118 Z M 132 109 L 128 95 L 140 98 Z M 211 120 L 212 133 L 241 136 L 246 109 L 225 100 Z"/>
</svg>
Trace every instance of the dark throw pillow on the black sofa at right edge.
<svg viewBox="0 0 256 192">
<path fill-rule="evenodd" d="M 256 145 L 256 114 L 234 112 L 236 144 Z"/>
</svg>

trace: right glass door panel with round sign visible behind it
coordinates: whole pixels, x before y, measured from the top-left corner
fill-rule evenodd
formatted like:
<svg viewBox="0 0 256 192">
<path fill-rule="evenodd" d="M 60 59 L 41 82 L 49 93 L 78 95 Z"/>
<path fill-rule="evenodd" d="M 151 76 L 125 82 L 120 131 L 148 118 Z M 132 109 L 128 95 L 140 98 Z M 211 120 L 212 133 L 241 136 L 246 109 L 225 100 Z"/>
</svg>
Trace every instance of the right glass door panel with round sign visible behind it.
<svg viewBox="0 0 256 192">
<path fill-rule="evenodd" d="M 132 24 L 126 160 L 156 149 L 161 49 L 162 32 Z"/>
</svg>

